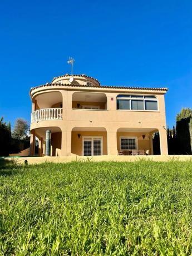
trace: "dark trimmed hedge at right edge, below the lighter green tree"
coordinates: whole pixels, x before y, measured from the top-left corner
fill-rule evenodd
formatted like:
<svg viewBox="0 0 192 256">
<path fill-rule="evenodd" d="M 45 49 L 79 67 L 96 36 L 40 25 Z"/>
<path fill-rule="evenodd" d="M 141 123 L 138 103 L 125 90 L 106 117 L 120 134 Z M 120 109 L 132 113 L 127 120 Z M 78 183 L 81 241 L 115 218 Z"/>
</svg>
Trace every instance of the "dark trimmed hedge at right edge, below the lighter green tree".
<svg viewBox="0 0 192 256">
<path fill-rule="evenodd" d="M 191 155 L 192 147 L 192 118 L 184 118 L 176 122 L 176 153 Z"/>
</svg>

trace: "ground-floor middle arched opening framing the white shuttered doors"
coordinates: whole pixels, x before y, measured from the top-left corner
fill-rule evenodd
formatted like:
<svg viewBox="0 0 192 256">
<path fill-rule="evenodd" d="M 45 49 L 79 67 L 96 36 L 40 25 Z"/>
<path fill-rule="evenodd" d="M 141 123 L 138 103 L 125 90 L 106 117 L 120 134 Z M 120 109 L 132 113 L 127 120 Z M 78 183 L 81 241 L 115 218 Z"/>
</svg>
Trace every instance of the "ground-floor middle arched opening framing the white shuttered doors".
<svg viewBox="0 0 192 256">
<path fill-rule="evenodd" d="M 74 127 L 71 153 L 79 156 L 107 155 L 107 131 L 104 127 Z"/>
</svg>

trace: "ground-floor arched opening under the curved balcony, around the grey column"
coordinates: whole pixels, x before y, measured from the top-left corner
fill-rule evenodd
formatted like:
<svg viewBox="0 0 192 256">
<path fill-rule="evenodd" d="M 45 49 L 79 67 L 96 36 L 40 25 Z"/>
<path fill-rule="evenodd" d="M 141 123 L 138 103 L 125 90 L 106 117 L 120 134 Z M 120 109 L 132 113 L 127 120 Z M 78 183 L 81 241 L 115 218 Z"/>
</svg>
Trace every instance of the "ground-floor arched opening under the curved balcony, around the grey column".
<svg viewBox="0 0 192 256">
<path fill-rule="evenodd" d="M 60 127 L 41 127 L 32 130 L 34 141 L 31 145 L 32 155 L 45 156 L 46 131 L 51 130 L 51 156 L 61 156 L 61 138 Z M 32 136 L 32 135 L 31 135 Z"/>
</svg>

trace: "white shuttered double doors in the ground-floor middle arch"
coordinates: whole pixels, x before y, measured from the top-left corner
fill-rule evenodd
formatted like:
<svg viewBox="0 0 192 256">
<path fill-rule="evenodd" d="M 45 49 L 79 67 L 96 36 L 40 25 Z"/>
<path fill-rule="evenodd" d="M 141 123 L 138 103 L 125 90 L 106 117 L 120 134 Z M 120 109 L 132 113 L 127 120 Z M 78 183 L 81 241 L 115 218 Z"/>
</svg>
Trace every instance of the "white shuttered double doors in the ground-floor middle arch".
<svg viewBox="0 0 192 256">
<path fill-rule="evenodd" d="M 82 137 L 82 155 L 83 156 L 102 155 L 102 137 L 83 136 Z"/>
</svg>

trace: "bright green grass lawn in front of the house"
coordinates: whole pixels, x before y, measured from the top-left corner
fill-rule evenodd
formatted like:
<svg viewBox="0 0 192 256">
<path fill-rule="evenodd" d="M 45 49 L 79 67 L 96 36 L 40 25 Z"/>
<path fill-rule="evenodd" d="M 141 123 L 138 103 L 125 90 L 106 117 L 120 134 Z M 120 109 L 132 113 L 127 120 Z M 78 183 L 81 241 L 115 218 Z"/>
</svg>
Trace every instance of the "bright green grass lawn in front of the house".
<svg viewBox="0 0 192 256">
<path fill-rule="evenodd" d="M 1 255 L 190 255 L 192 162 L 5 165 Z"/>
</svg>

